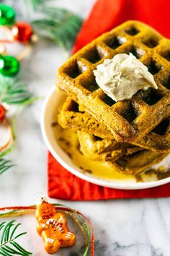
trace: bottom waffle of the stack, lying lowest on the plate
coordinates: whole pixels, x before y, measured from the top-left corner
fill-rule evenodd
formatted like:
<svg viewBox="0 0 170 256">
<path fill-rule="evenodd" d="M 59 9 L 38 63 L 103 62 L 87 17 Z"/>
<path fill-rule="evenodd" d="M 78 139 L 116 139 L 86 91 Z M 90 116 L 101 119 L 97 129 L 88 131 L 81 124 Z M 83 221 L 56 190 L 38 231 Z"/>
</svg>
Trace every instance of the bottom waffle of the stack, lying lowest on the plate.
<svg viewBox="0 0 170 256">
<path fill-rule="evenodd" d="M 139 174 L 146 168 L 160 163 L 168 154 L 160 154 L 151 150 L 142 150 L 132 155 L 123 155 L 109 165 L 122 174 Z"/>
</svg>

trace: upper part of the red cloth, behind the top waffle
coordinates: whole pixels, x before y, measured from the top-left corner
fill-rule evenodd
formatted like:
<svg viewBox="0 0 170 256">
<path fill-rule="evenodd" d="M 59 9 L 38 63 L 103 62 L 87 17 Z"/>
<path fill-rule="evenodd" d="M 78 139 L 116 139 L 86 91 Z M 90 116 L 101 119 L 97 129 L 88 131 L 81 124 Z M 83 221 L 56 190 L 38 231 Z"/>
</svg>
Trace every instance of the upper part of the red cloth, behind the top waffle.
<svg viewBox="0 0 170 256">
<path fill-rule="evenodd" d="M 162 0 L 98 0 L 84 22 L 73 51 L 126 20 L 140 20 L 170 38 L 170 1 Z"/>
</svg>

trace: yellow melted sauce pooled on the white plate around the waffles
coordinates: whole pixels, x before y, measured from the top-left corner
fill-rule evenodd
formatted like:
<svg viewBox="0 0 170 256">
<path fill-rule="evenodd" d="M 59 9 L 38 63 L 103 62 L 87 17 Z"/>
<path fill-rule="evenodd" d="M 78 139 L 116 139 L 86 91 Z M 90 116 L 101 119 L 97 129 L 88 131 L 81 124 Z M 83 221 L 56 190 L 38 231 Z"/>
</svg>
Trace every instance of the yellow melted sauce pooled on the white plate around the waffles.
<svg viewBox="0 0 170 256">
<path fill-rule="evenodd" d="M 134 182 L 151 182 L 160 179 L 165 179 L 170 176 L 170 168 L 166 172 L 164 166 L 155 168 L 148 168 L 147 171 L 138 175 L 120 174 L 114 168 L 110 168 L 107 163 L 99 163 L 91 161 L 85 155 L 81 153 L 79 140 L 72 129 L 63 129 L 57 121 L 51 124 L 55 134 L 55 138 L 58 145 L 65 151 L 65 153 L 71 158 L 75 166 L 81 169 L 82 173 L 92 174 L 102 179 L 123 179 Z M 161 171 L 161 172 L 160 172 Z"/>
</svg>

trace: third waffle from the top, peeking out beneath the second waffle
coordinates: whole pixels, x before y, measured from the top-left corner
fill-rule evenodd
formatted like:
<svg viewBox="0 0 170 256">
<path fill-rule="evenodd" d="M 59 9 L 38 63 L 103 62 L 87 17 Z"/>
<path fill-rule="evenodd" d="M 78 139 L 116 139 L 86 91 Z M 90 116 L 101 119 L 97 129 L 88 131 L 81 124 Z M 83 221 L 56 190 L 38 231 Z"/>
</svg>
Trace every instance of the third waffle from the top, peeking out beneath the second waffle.
<svg viewBox="0 0 170 256">
<path fill-rule="evenodd" d="M 116 161 L 122 155 L 130 155 L 143 148 L 128 145 L 128 143 L 107 140 L 86 132 L 78 132 L 81 151 L 84 155 L 94 161 Z"/>
</svg>

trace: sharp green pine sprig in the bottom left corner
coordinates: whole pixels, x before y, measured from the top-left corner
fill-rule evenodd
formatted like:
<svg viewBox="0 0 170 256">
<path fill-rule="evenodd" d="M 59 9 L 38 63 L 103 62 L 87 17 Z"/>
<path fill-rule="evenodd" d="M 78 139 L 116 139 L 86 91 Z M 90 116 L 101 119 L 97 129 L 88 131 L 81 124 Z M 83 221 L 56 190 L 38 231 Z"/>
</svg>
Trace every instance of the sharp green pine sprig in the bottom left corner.
<svg viewBox="0 0 170 256">
<path fill-rule="evenodd" d="M 32 255 L 31 252 L 28 252 L 16 242 L 16 239 L 19 238 L 19 236 L 23 236 L 24 234 L 27 234 L 27 232 L 16 234 L 17 233 L 16 231 L 18 227 L 21 225 L 21 223 L 16 224 L 14 222 L 15 221 L 9 221 L 8 223 L 5 223 L 5 222 L 0 223 L 0 231 L 1 231 L 0 255 L 3 255 L 3 256 Z"/>
</svg>

